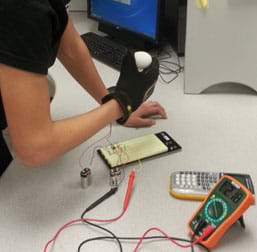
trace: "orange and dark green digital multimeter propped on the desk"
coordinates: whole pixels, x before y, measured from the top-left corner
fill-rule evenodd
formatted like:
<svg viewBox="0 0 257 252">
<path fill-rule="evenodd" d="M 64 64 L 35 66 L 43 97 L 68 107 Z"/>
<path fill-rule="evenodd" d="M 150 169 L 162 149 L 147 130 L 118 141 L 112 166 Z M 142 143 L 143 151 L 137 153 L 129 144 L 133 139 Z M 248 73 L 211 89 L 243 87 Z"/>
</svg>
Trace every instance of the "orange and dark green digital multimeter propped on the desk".
<svg viewBox="0 0 257 252">
<path fill-rule="evenodd" d="M 189 232 L 194 239 L 200 239 L 201 244 L 213 248 L 253 202 L 252 193 L 243 184 L 225 175 L 217 182 L 189 221 Z M 211 227 L 212 232 L 201 240 L 201 235 L 208 227 Z"/>
</svg>

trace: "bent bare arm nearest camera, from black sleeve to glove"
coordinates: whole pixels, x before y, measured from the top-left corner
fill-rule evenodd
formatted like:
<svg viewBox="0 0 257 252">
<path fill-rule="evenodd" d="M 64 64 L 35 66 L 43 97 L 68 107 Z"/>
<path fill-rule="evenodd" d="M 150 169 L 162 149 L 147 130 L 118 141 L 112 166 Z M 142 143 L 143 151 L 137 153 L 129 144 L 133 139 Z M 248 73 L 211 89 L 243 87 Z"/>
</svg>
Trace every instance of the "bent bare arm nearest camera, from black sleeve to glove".
<svg viewBox="0 0 257 252">
<path fill-rule="evenodd" d="M 47 163 L 122 116 L 111 100 L 93 111 L 52 121 L 45 75 L 0 65 L 0 90 L 17 157 L 28 166 Z"/>
</svg>

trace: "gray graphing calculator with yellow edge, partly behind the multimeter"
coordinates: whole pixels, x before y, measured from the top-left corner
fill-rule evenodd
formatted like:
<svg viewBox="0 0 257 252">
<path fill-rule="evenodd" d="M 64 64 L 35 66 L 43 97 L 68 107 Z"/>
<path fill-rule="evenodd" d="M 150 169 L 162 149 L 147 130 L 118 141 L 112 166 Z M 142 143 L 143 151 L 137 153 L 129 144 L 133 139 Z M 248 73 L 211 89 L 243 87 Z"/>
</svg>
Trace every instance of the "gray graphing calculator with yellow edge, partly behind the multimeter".
<svg viewBox="0 0 257 252">
<path fill-rule="evenodd" d="M 248 174 L 197 171 L 172 173 L 169 192 L 172 196 L 180 199 L 204 200 L 210 189 L 223 175 L 229 175 L 237 179 L 254 194 L 253 182 Z"/>
</svg>

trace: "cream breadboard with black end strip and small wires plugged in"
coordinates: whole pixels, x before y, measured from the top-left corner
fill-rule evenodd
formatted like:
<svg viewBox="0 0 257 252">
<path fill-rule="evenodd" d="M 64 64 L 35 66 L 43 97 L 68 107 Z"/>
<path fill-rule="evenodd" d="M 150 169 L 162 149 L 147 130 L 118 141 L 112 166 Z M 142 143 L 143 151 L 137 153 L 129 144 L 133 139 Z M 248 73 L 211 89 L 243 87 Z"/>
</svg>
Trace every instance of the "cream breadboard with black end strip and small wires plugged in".
<svg viewBox="0 0 257 252">
<path fill-rule="evenodd" d="M 181 150 L 181 146 L 167 132 L 162 131 L 108 145 L 97 151 L 109 168 L 115 168 L 178 150 Z"/>
</svg>

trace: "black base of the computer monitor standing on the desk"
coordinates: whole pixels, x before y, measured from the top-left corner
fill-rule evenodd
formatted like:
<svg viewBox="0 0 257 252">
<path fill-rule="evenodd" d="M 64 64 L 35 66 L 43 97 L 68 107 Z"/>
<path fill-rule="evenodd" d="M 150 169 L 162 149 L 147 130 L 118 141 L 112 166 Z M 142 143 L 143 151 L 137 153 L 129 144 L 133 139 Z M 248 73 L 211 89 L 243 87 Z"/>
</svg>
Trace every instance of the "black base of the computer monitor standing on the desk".
<svg viewBox="0 0 257 252">
<path fill-rule="evenodd" d="M 159 46 L 155 41 L 147 41 L 133 32 L 120 29 L 118 26 L 99 22 L 98 30 L 107 34 L 108 39 L 127 48 L 149 51 Z"/>
</svg>

